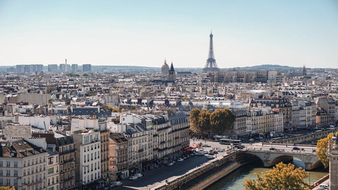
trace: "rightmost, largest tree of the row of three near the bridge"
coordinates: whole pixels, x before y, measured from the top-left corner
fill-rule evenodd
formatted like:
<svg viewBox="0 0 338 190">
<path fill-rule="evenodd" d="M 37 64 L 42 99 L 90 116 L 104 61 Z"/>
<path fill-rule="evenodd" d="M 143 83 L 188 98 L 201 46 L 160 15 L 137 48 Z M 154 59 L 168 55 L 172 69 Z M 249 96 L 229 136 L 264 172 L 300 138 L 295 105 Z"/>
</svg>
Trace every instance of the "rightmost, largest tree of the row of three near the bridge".
<svg viewBox="0 0 338 190">
<path fill-rule="evenodd" d="M 229 108 L 217 109 L 210 115 L 212 131 L 222 135 L 235 122 L 235 115 Z"/>
</svg>

